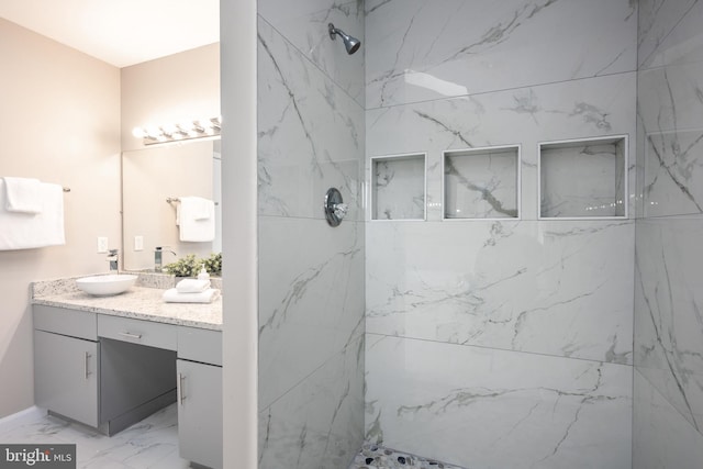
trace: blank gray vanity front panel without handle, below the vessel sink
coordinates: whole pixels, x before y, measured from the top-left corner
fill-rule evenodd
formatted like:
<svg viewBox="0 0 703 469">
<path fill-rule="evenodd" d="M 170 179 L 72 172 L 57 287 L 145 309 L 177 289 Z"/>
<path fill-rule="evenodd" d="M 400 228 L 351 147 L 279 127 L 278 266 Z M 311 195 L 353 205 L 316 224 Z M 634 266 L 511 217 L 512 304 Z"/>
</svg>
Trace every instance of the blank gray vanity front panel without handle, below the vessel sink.
<svg viewBox="0 0 703 469">
<path fill-rule="evenodd" d="M 34 328 L 87 340 L 98 339 L 96 313 L 34 304 Z"/>
</svg>

